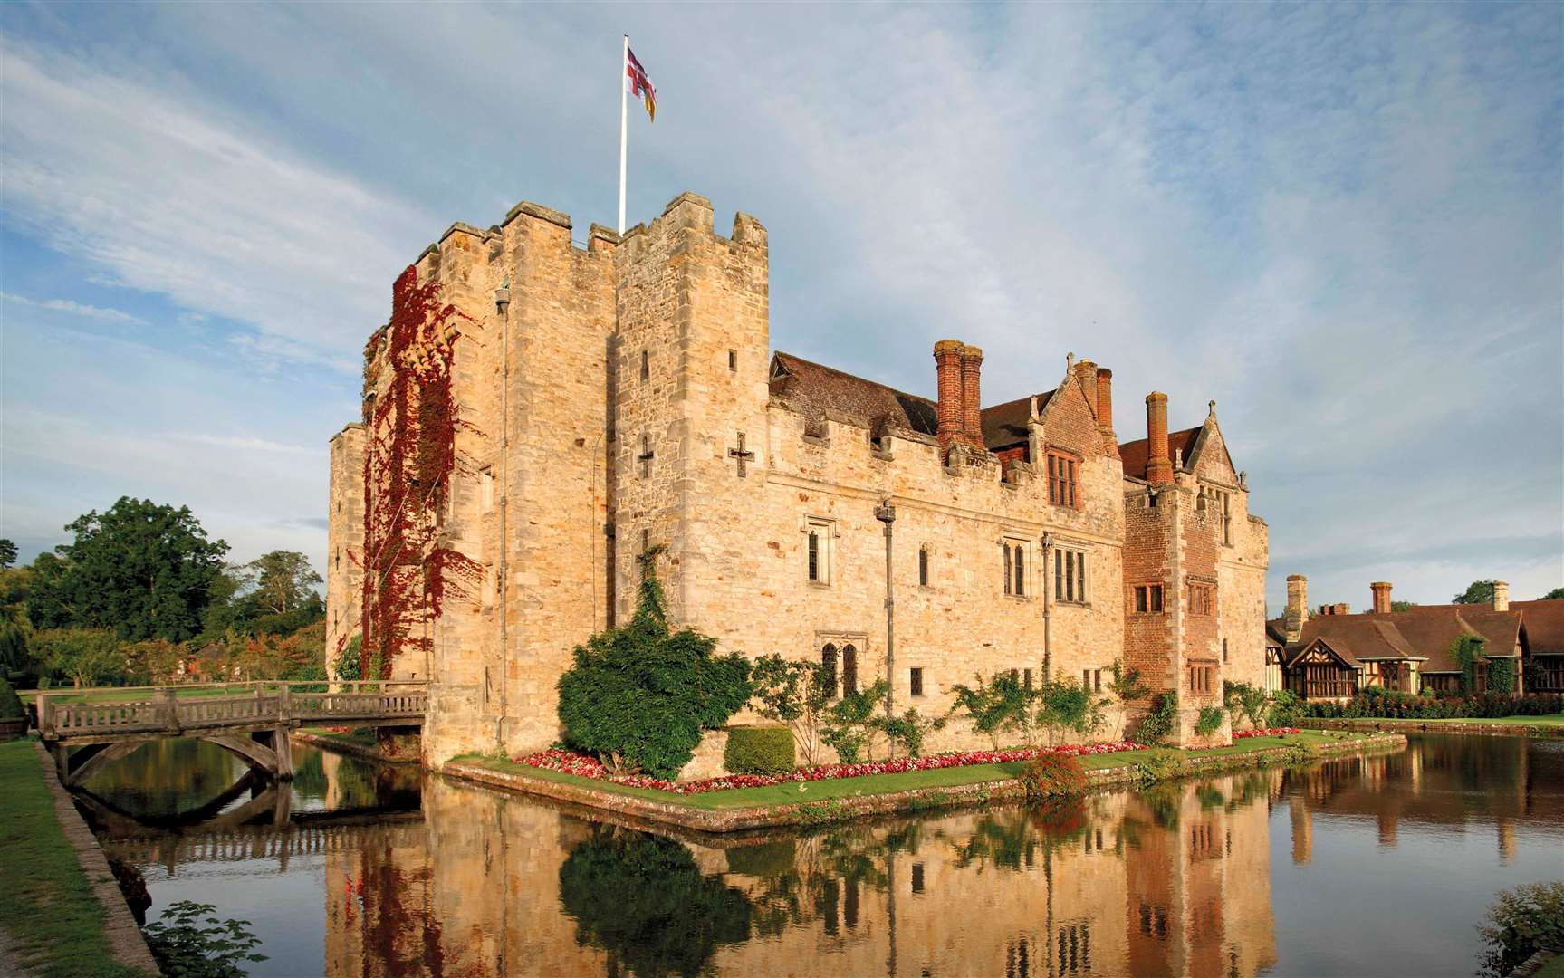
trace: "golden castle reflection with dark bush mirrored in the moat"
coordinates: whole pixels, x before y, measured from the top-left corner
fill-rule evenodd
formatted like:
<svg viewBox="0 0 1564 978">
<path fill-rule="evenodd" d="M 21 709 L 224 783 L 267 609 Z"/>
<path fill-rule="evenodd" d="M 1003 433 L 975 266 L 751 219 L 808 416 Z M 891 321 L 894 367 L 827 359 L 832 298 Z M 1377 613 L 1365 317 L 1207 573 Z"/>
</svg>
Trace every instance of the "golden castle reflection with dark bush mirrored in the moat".
<svg viewBox="0 0 1564 978">
<path fill-rule="evenodd" d="M 1381 850 L 1403 822 L 1448 826 L 1494 839 L 1487 859 L 1503 864 L 1517 825 L 1564 825 L 1559 756 L 1539 775 L 1533 753 L 1523 740 L 1409 750 L 744 839 L 422 776 L 422 817 L 350 822 L 319 843 L 289 823 L 296 842 L 271 850 L 256 840 L 277 829 L 252 826 L 238 848 L 272 873 L 292 859 L 324 876 L 324 908 L 291 912 L 324 912 L 327 975 L 1248 976 L 1278 965 L 1272 861 L 1314 861 L 1318 820 L 1358 825 Z M 405 801 L 419 779 L 311 760 L 327 809 Z M 1555 789 L 1531 790 L 1539 776 Z M 170 876 L 233 858 L 192 839 L 117 845 Z"/>
</svg>

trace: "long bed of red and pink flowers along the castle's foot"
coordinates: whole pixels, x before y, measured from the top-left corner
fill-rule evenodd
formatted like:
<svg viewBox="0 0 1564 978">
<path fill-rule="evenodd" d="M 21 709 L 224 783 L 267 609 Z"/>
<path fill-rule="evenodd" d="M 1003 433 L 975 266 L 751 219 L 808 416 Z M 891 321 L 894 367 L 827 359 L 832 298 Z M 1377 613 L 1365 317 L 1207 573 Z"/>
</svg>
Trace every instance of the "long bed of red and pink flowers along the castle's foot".
<svg viewBox="0 0 1564 978">
<path fill-rule="evenodd" d="M 1298 731 L 1289 729 L 1287 732 L 1295 734 Z M 685 784 L 647 778 L 644 775 L 621 775 L 615 778 L 608 773 L 608 768 L 605 768 L 594 757 L 586 757 L 585 754 L 577 754 L 574 751 L 547 750 L 527 754 L 526 757 L 516 757 L 515 760 L 516 764 L 526 764 L 546 771 L 558 771 L 561 775 L 576 775 L 577 778 L 612 781 L 613 784 L 626 784 L 630 787 L 649 787 L 679 795 L 704 795 L 705 792 L 724 792 L 737 787 L 769 787 L 773 784 L 784 784 L 788 781 L 834 781 L 838 778 L 863 778 L 866 775 L 932 771 L 948 767 L 967 767 L 971 764 L 1035 760 L 1048 754 L 1081 757 L 1087 754 L 1117 754 L 1120 751 L 1142 750 L 1145 750 L 1145 745 L 1132 740 L 1118 740 L 1114 743 L 1067 743 L 1062 746 L 1029 746 L 1004 751 L 957 751 L 952 754 L 935 754 L 932 757 L 896 757 L 893 760 L 868 760 L 863 764 L 821 764 L 818 767 L 798 768 L 785 775 L 727 775 L 726 778 L 708 778 L 705 781 L 690 781 Z"/>
</svg>

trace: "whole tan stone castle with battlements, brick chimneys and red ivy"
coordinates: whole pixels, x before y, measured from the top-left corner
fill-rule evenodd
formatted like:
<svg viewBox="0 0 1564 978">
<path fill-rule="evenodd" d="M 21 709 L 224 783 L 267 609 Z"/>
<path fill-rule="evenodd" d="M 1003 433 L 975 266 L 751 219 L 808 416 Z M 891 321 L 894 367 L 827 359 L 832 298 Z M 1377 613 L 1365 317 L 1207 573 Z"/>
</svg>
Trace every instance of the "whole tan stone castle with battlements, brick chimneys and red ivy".
<svg viewBox="0 0 1564 978">
<path fill-rule="evenodd" d="M 896 710 L 999 670 L 1106 696 L 1120 660 L 1178 690 L 1181 743 L 1228 740 L 1193 725 L 1225 679 L 1265 682 L 1267 526 L 1214 402 L 1168 432 L 1151 393 L 1120 443 L 1090 360 L 982 407 L 954 340 L 934 401 L 769 340 L 766 230 L 715 233 L 696 194 L 585 249 L 519 203 L 419 255 L 332 440 L 327 627 L 430 682 L 427 760 L 557 740 L 571 649 L 627 620 L 654 546 L 674 621 L 838 689 L 888 678 Z M 1093 739 L 1134 731 L 1114 703 Z"/>
</svg>

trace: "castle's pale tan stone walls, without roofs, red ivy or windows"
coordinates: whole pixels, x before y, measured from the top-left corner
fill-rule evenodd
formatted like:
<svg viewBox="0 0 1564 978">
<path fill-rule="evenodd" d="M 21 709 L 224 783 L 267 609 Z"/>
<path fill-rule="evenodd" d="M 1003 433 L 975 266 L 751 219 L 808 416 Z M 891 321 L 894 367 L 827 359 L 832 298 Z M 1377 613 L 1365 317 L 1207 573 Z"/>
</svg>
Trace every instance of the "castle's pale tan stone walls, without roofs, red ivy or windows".
<svg viewBox="0 0 1564 978">
<path fill-rule="evenodd" d="M 594 225 L 585 249 L 566 214 L 521 203 L 486 232 L 452 225 L 416 268 L 463 316 L 458 466 L 435 516 L 443 546 L 485 574 L 479 595 L 430 621 L 427 662 L 397 663 L 397 674 L 433 681 L 424 745 L 436 764 L 558 737 L 558 674 L 574 645 L 627 618 L 652 546 L 665 548 L 657 571 L 676 623 L 752 657 L 818 660 L 826 643 L 851 645 L 860 687 L 888 674 L 898 710 L 945 714 L 954 684 L 1012 668 L 1034 682 L 1085 674 L 1107 696 L 1118 659 L 1156 689 L 1179 689 L 1198 654 L 1218 663 L 1211 701 L 1223 676 L 1264 676 L 1265 526 L 1248 515 L 1214 413 L 1198 458 L 1184 460 L 1154 509 L 1146 485 L 1125 476 L 1110 372 L 1092 361 L 1067 365 L 1026 426 L 1026 451 L 1003 463 L 965 444 L 946 458 L 935 437 L 870 418 L 805 418 L 769 396 L 766 232 L 737 214 L 718 235 L 696 194 L 622 241 Z M 965 361 L 973 387 L 978 363 Z M 383 390 L 385 376 L 371 360 L 366 391 Z M 372 435 L 350 427 L 333 440 L 328 642 L 349 634 L 330 617 L 361 590 L 335 552 L 363 520 L 353 438 Z M 1049 502 L 1048 451 L 1079 462 L 1079 507 Z M 1206 490 L 1226 493 L 1231 543 L 1217 537 L 1218 513 L 1198 505 Z M 893 668 L 887 538 L 874 515 L 885 502 L 896 510 Z M 821 581 L 805 573 L 812 527 Z M 1021 595 L 1004 588 L 1007 546 L 1026 566 Z M 1062 552 L 1087 559 L 1085 601 L 1053 593 Z M 1190 574 L 1217 591 L 1201 621 L 1184 609 Z M 1131 587 L 1148 581 L 1164 584 L 1164 613 L 1126 618 Z M 1125 729 L 1114 701 L 1092 739 Z M 929 750 L 984 743 L 954 725 Z"/>
</svg>

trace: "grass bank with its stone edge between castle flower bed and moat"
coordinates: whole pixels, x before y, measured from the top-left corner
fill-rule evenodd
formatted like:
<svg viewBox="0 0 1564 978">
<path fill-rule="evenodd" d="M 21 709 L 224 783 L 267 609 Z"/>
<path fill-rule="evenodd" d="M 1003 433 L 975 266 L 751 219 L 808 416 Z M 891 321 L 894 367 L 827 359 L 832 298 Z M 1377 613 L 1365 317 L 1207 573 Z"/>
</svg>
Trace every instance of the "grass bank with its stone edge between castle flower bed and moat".
<svg viewBox="0 0 1564 978">
<path fill-rule="evenodd" d="M 1278 754 L 1303 748 L 1309 753 L 1350 753 L 1370 742 L 1386 742 L 1384 737 L 1362 734 L 1339 734 L 1306 731 L 1286 737 L 1251 737 L 1231 746 L 1179 751 L 1203 771 L 1225 767 L 1257 767 Z M 1394 737 L 1404 743 L 1404 739 Z M 1120 751 L 1117 754 L 1089 754 L 1079 757 L 1093 786 L 1123 784 L 1137 779 L 1137 764 L 1153 759 L 1154 751 Z M 938 768 L 929 771 L 902 771 L 896 775 L 866 775 L 863 778 L 840 778 L 746 787 L 702 795 L 679 795 L 657 789 L 613 784 L 577 775 L 547 771 L 508 759 L 483 754 L 455 757 L 447 773 L 458 778 L 474 778 L 502 787 L 543 793 L 566 801 L 612 807 L 627 814 L 658 818 L 666 817 L 690 828 L 708 831 L 732 831 L 757 825 L 785 825 L 818 820 L 826 814 L 851 814 L 841 811 L 843 803 L 866 803 L 863 811 L 895 811 L 898 807 L 932 807 L 940 803 L 960 803 L 965 798 L 990 798 L 1015 793 L 1020 787 L 1017 775 L 1026 762 L 971 764 L 967 767 Z M 494 776 L 485 776 L 493 773 Z M 557 786 L 558 792 L 549 790 Z M 902 804 L 904 803 L 904 804 Z M 824 809 L 823 809 L 824 806 Z M 829 809 L 829 811 L 827 811 Z"/>
</svg>

